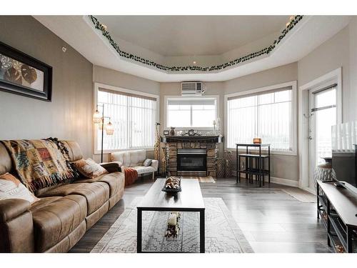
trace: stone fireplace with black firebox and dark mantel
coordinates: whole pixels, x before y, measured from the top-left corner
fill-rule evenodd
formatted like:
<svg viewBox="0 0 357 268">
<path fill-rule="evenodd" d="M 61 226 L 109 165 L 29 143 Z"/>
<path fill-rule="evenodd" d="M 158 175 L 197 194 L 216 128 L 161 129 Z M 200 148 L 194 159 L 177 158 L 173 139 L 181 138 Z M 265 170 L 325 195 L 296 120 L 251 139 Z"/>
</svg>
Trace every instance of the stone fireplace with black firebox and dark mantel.
<svg viewBox="0 0 357 268">
<path fill-rule="evenodd" d="M 217 144 L 221 136 L 161 136 L 165 143 L 166 173 L 170 176 L 217 177 Z"/>
</svg>

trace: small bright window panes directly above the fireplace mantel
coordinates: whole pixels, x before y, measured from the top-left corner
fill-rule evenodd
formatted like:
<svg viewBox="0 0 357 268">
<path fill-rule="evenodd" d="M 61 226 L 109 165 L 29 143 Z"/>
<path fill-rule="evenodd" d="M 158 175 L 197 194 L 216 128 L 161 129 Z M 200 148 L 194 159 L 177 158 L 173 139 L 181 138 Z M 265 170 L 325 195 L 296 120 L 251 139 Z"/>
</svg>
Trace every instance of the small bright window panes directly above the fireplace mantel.
<svg viewBox="0 0 357 268">
<path fill-rule="evenodd" d="M 216 97 L 166 99 L 166 128 L 212 128 L 216 114 Z"/>
</svg>

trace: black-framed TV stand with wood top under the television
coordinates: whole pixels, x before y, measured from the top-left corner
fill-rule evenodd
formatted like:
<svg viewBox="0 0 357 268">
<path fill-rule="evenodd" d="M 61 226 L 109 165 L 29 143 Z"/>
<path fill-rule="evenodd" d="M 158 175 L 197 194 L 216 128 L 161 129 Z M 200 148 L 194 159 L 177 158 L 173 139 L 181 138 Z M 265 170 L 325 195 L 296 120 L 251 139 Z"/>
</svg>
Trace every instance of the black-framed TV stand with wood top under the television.
<svg viewBox="0 0 357 268">
<path fill-rule="evenodd" d="M 327 231 L 334 252 L 357 253 L 357 195 L 333 183 L 318 181 L 317 217 Z"/>
</svg>

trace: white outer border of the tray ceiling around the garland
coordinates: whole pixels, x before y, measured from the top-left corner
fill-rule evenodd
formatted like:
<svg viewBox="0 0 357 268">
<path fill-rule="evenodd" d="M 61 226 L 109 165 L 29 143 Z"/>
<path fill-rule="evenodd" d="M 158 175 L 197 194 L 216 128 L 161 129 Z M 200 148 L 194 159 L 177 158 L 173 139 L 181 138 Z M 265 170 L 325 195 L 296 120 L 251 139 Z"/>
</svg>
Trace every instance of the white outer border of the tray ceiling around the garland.
<svg viewBox="0 0 357 268">
<path fill-rule="evenodd" d="M 258 71 L 289 64 L 291 62 L 298 61 L 299 59 L 303 58 L 303 56 L 306 56 L 308 53 L 313 51 L 313 49 L 316 49 L 316 47 L 323 44 L 323 42 L 338 33 L 338 31 L 341 31 L 341 29 L 343 29 L 351 20 L 350 16 L 303 16 L 301 21 L 299 21 L 291 31 L 288 31 L 286 36 L 284 36 L 283 39 L 281 39 L 275 48 L 268 54 L 256 56 L 253 59 L 242 61 L 239 64 L 235 64 L 224 69 L 213 69 L 211 71 L 197 71 L 195 69 L 186 69 L 184 71 L 168 71 L 166 69 L 160 69 L 150 64 L 145 64 L 141 61 L 136 61 L 134 59 L 129 59 L 128 57 L 122 56 L 119 54 L 115 45 L 118 45 L 121 51 L 130 52 L 134 54 L 134 56 L 140 56 L 144 62 L 154 61 L 155 63 L 166 64 L 166 66 L 188 66 L 193 64 L 194 59 L 192 59 L 190 56 L 163 56 L 161 54 L 150 51 L 149 49 L 144 49 L 142 46 L 133 44 L 129 41 L 124 41 L 123 36 L 115 36 L 112 34 L 110 26 L 107 26 L 110 36 L 113 37 L 111 41 L 109 41 L 108 36 L 105 36 L 105 32 L 94 27 L 94 23 L 91 21 L 89 16 L 34 17 L 40 21 L 41 24 L 44 24 L 44 26 L 53 31 L 57 36 L 66 41 L 73 49 L 79 51 L 79 53 L 91 61 L 92 64 L 162 82 L 226 81 L 236 77 L 245 76 L 247 74 L 253 74 Z M 270 17 L 271 16 L 266 16 L 266 21 L 269 21 Z M 224 18 L 225 17 L 222 17 L 222 21 L 225 21 Z M 100 22 L 103 24 L 102 21 Z M 143 27 L 147 27 L 148 25 L 151 25 L 151 22 L 144 20 L 141 22 L 141 24 Z M 208 22 L 207 24 L 211 25 Z M 264 24 L 262 22 L 261 27 L 263 26 Z M 241 27 L 236 28 L 237 31 L 241 31 Z M 249 29 L 246 29 L 246 32 L 252 31 L 250 26 L 242 28 Z M 188 31 L 191 31 L 191 28 L 188 27 L 188 29 Z M 226 31 L 225 29 L 222 29 L 222 31 L 223 30 Z M 141 34 L 138 34 L 135 31 L 133 32 L 135 34 L 132 35 L 135 37 L 136 35 L 140 36 L 141 34 L 144 34 L 145 31 L 142 30 Z M 270 39 L 270 37 L 271 36 L 268 35 L 263 37 L 261 40 L 251 41 L 246 45 L 238 46 L 236 49 L 221 54 L 220 56 L 198 56 L 201 58 L 198 59 L 196 66 L 212 66 L 213 64 L 224 64 L 225 62 L 231 61 L 233 59 L 238 59 L 241 56 L 253 54 L 256 51 L 260 51 L 261 49 L 271 45 L 273 41 L 267 40 L 267 38 Z M 147 39 L 150 38 L 147 37 Z M 151 41 L 154 40 L 153 44 L 156 44 L 156 46 L 161 46 L 157 39 L 151 39 Z M 166 39 L 176 39 L 176 36 L 174 34 L 169 34 Z M 248 39 L 245 39 L 245 41 L 247 40 Z M 226 44 L 228 43 L 229 42 L 227 41 Z M 211 42 L 211 44 L 208 44 L 207 47 L 216 47 L 215 44 L 216 43 L 212 44 Z M 197 49 L 195 46 L 191 46 L 191 49 L 192 48 Z M 226 48 L 228 48 L 228 46 L 226 46 Z"/>
</svg>

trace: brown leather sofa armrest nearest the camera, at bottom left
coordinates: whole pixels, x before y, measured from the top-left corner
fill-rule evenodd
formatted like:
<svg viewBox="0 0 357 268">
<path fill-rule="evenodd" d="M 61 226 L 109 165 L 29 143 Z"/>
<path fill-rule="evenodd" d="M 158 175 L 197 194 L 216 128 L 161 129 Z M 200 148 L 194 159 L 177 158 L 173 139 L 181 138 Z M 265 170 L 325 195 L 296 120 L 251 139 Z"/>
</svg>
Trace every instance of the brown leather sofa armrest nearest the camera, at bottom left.
<svg viewBox="0 0 357 268">
<path fill-rule="evenodd" d="M 34 252 L 34 222 L 30 202 L 0 200 L 0 252 Z"/>
</svg>

